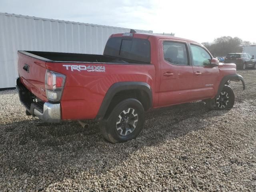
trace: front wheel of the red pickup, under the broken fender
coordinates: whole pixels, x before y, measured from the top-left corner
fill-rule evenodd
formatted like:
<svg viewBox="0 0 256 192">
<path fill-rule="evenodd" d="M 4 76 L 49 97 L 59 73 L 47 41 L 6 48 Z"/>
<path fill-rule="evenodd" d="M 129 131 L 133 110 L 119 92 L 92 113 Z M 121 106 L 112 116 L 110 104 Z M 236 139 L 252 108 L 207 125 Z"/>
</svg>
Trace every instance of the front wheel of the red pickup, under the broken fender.
<svg viewBox="0 0 256 192">
<path fill-rule="evenodd" d="M 234 106 L 235 94 L 232 88 L 228 85 L 224 85 L 220 94 L 215 98 L 206 101 L 206 106 L 210 110 L 217 109 L 230 109 Z"/>
</svg>

